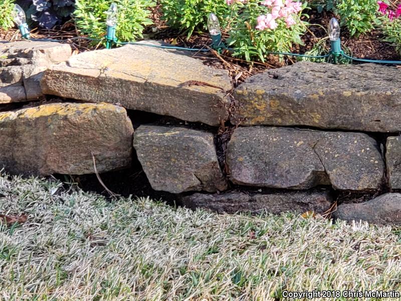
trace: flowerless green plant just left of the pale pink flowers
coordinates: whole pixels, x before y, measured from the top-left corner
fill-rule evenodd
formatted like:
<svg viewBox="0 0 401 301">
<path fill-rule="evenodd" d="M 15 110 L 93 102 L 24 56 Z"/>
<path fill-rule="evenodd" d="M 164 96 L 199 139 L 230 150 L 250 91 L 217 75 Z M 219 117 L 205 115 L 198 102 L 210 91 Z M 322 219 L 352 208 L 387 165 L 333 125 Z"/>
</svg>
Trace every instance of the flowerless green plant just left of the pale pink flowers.
<svg viewBox="0 0 401 301">
<path fill-rule="evenodd" d="M 210 13 L 219 16 L 221 25 L 225 27 L 226 17 L 231 12 L 225 0 L 161 0 L 160 3 L 163 19 L 168 25 L 185 31 L 188 38 L 196 28 L 207 29 Z"/>
</svg>

